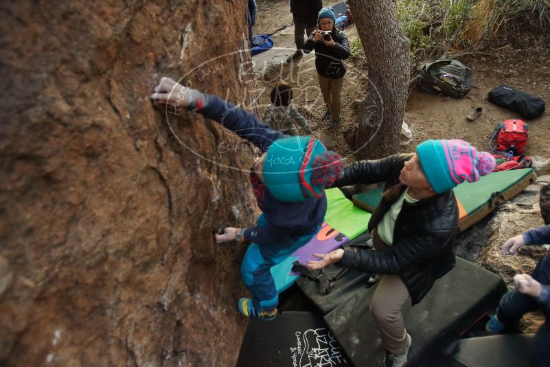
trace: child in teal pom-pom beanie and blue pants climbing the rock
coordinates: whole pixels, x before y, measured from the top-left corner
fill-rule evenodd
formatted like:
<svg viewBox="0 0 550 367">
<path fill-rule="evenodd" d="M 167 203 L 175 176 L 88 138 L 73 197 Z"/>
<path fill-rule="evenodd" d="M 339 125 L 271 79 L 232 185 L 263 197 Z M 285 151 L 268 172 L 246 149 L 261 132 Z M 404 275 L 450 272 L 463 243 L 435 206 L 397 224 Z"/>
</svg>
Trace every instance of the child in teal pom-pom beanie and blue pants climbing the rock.
<svg viewBox="0 0 550 367">
<path fill-rule="evenodd" d="M 216 242 L 253 242 L 241 267 L 252 299 L 241 298 L 238 309 L 250 318 L 272 320 L 277 315 L 278 296 L 270 269 L 317 233 L 327 208 L 324 188 L 341 175 L 343 160 L 314 137 L 289 137 L 274 131 L 249 111 L 170 78 L 161 78 L 151 98 L 211 118 L 262 151 L 250 173 L 262 210 L 257 225 L 227 227 L 216 235 Z"/>
</svg>

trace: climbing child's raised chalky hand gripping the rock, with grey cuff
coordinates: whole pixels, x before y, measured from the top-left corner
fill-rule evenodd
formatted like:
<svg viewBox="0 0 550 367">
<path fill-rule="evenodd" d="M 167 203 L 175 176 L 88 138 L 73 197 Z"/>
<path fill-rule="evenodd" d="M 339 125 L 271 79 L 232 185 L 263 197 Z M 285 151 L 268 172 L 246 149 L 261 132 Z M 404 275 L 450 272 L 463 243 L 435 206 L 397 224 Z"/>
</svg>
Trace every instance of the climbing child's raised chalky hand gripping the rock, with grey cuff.
<svg viewBox="0 0 550 367">
<path fill-rule="evenodd" d="M 164 76 L 159 80 L 151 99 L 177 108 L 200 110 L 206 105 L 206 97 L 200 91 L 185 87 L 176 80 Z"/>
</svg>

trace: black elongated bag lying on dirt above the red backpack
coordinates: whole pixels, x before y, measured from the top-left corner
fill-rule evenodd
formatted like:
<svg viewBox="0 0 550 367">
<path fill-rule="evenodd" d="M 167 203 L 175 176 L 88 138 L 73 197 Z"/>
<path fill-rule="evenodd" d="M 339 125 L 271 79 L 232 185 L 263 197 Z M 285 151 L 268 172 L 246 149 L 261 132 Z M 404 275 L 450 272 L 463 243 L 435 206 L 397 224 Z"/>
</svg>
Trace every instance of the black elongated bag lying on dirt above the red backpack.
<svg viewBox="0 0 550 367">
<path fill-rule="evenodd" d="M 497 106 L 516 111 L 522 118 L 527 120 L 538 118 L 542 113 L 545 113 L 545 101 L 542 98 L 532 96 L 509 85 L 501 85 L 491 89 L 488 101 Z"/>
</svg>

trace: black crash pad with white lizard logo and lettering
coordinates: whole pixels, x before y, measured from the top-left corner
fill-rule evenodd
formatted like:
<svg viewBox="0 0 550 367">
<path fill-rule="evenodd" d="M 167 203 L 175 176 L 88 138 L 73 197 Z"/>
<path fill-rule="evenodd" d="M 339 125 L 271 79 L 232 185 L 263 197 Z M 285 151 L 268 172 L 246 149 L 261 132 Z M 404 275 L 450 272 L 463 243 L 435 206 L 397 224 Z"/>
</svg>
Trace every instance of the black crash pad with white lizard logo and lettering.
<svg viewBox="0 0 550 367">
<path fill-rule="evenodd" d="M 339 342 L 314 312 L 284 312 L 271 322 L 251 319 L 237 367 L 351 366 Z"/>
</svg>

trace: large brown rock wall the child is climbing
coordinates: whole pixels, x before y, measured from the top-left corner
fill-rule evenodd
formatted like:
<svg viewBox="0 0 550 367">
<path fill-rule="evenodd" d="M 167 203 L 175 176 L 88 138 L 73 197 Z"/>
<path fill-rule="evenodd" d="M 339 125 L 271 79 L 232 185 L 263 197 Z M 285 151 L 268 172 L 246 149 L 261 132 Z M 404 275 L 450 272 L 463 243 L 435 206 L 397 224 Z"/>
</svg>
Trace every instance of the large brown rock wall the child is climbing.
<svg viewBox="0 0 550 367">
<path fill-rule="evenodd" d="M 249 105 L 246 2 L 0 7 L 0 364 L 234 365 L 251 148 L 148 95 Z"/>
</svg>

